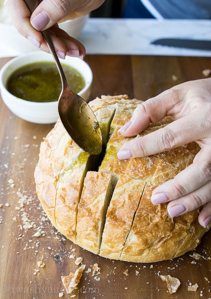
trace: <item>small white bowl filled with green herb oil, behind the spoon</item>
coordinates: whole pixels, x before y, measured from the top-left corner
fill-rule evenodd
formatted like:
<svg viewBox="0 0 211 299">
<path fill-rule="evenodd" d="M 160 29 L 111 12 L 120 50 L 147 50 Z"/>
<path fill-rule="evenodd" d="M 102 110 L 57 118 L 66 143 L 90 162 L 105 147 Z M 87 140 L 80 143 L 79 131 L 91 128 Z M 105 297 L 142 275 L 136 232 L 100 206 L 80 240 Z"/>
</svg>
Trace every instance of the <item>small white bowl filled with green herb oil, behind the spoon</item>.
<svg viewBox="0 0 211 299">
<path fill-rule="evenodd" d="M 89 100 L 92 71 L 78 57 L 60 60 L 70 89 Z M 55 123 L 61 79 L 51 54 L 34 51 L 9 60 L 0 71 L 3 102 L 18 117 L 32 123 Z"/>
</svg>

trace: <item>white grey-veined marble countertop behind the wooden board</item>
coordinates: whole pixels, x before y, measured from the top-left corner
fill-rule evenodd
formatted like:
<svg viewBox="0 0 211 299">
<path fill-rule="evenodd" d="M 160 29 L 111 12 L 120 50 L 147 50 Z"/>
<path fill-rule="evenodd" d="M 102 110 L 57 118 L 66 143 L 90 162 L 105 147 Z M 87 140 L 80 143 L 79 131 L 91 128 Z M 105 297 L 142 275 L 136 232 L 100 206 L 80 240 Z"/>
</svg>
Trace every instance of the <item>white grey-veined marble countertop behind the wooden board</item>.
<svg viewBox="0 0 211 299">
<path fill-rule="evenodd" d="M 211 56 L 208 50 L 150 44 L 159 38 L 211 40 L 211 20 L 88 18 L 78 40 L 87 54 Z M 0 24 L 0 40 L 0 57 L 37 49 L 6 24 Z"/>
</svg>

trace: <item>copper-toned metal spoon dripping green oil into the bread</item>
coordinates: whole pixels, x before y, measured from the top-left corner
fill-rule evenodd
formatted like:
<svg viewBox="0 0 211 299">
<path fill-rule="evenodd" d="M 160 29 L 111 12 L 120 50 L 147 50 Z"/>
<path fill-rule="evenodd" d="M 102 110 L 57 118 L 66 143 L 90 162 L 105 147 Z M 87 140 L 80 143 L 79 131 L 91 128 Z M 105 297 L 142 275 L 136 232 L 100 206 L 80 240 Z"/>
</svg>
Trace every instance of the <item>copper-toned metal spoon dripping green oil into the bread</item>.
<svg viewBox="0 0 211 299">
<path fill-rule="evenodd" d="M 33 13 L 37 1 L 24 0 L 28 9 Z M 102 135 L 98 121 L 87 102 L 68 87 L 63 68 L 58 59 L 52 39 L 47 30 L 42 31 L 43 37 L 53 55 L 61 80 L 62 91 L 58 100 L 58 114 L 60 120 L 78 146 L 91 155 L 98 155 L 102 151 Z"/>
</svg>

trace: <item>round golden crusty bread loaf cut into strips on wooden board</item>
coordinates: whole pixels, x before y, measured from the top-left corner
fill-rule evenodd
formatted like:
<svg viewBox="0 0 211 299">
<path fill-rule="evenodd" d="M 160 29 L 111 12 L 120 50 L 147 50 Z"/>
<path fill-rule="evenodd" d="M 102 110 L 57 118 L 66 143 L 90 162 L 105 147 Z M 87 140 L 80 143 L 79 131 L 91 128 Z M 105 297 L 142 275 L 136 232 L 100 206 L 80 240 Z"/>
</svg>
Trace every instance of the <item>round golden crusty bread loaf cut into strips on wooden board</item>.
<svg viewBox="0 0 211 299">
<path fill-rule="evenodd" d="M 40 146 L 35 182 L 48 218 L 65 237 L 103 257 L 153 262 L 194 249 L 207 229 L 198 210 L 171 218 L 167 203 L 153 205 L 153 189 L 193 162 L 196 143 L 143 158 L 118 160 L 127 140 L 118 129 L 141 102 L 126 95 L 102 96 L 89 103 L 103 136 L 104 150 L 90 156 L 60 121 Z M 172 122 L 151 123 L 139 136 Z"/>
</svg>

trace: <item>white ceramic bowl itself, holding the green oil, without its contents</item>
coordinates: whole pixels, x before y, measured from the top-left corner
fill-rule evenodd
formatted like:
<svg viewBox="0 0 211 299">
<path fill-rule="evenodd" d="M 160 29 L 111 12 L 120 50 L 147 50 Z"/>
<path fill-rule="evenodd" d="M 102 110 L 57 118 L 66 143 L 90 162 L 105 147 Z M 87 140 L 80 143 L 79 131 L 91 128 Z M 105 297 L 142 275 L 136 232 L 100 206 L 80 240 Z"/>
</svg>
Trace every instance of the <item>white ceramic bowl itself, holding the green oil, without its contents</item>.
<svg viewBox="0 0 211 299">
<path fill-rule="evenodd" d="M 32 123 L 55 123 L 58 119 L 58 101 L 30 102 L 13 96 L 8 92 L 6 85 L 8 78 L 18 68 L 41 61 L 54 61 L 51 54 L 34 51 L 13 58 L 8 61 L 0 71 L 0 92 L 4 103 L 18 117 Z M 85 80 L 85 87 L 78 94 L 88 101 L 91 92 L 92 71 L 88 64 L 77 57 L 67 56 L 61 63 L 72 66 L 78 70 Z"/>
</svg>

